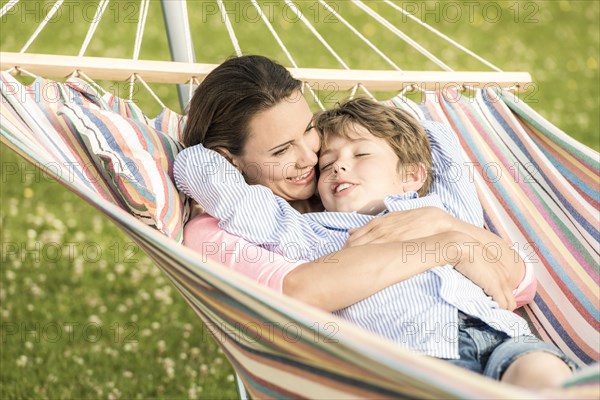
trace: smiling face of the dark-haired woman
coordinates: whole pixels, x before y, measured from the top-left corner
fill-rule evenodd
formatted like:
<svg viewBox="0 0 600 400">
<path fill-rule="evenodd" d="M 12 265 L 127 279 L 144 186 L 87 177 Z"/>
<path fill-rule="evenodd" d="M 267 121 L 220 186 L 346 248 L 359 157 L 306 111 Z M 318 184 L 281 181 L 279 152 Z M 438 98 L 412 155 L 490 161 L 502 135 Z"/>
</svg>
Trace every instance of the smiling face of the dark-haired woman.
<svg viewBox="0 0 600 400">
<path fill-rule="evenodd" d="M 246 182 L 266 186 L 287 201 L 310 198 L 320 147 L 312 118 L 298 93 L 251 119 L 244 152 L 233 157 Z"/>
</svg>

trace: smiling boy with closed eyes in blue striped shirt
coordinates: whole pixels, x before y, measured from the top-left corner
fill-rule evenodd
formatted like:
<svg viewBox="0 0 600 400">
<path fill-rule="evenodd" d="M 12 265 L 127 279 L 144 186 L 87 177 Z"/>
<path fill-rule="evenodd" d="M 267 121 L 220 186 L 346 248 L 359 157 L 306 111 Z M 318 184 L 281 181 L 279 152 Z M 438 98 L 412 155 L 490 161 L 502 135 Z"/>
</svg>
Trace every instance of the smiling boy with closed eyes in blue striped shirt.
<svg viewBox="0 0 600 400">
<path fill-rule="evenodd" d="M 325 213 L 298 213 L 269 189 L 247 185 L 240 171 L 201 146 L 179 154 L 177 185 L 219 219 L 221 228 L 295 259 L 339 250 L 348 230 L 382 213 L 426 206 L 450 211 L 447 196 L 443 201 L 435 193 L 426 195 L 431 149 L 425 130 L 408 113 L 355 99 L 314 121 L 322 134 L 318 189 Z M 255 213 L 258 218 L 248 218 Z M 499 309 L 449 265 L 334 314 L 413 351 L 495 379 L 506 372 L 508 382 L 545 387 L 570 375 L 558 349 L 531 336 L 523 319 Z M 520 382 L 513 376 L 519 370 L 515 366 L 539 369 L 540 376 Z"/>
</svg>

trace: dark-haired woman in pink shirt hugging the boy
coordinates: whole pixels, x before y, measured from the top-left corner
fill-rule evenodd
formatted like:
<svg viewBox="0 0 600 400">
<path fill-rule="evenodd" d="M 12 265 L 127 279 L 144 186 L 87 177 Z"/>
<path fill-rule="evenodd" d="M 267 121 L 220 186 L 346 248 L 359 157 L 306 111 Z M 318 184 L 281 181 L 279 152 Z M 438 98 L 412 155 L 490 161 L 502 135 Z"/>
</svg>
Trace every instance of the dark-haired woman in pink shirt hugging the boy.
<svg viewBox="0 0 600 400">
<path fill-rule="evenodd" d="M 320 211 L 314 196 L 320 142 L 300 89 L 300 81 L 265 57 L 230 59 L 196 90 L 184 144 L 202 143 L 219 151 L 248 183 L 269 187 L 300 212 Z M 373 220 L 354 231 L 342 251 L 313 262 L 286 260 L 255 247 L 220 230 L 206 215 L 186 225 L 184 242 L 205 257 L 328 311 L 445 263 L 455 265 L 501 307 L 513 309 L 512 289 L 525 275 L 523 262 L 507 243 L 434 208 Z M 500 249 L 495 257 L 481 251 L 487 243 Z"/>
</svg>

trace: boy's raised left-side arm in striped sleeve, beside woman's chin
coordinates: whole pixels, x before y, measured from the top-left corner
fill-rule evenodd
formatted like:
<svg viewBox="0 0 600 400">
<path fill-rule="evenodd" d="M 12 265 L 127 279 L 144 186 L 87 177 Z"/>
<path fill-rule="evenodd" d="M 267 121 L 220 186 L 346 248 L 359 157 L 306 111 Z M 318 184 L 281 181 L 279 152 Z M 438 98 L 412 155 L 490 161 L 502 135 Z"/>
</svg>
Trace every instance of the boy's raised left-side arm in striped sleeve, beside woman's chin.
<svg viewBox="0 0 600 400">
<path fill-rule="evenodd" d="M 309 248 L 314 234 L 285 200 L 260 185 L 248 185 L 223 156 L 202 145 L 181 151 L 174 166 L 179 190 L 217 218 L 219 226 L 250 242 L 283 254 L 285 244 Z"/>
</svg>

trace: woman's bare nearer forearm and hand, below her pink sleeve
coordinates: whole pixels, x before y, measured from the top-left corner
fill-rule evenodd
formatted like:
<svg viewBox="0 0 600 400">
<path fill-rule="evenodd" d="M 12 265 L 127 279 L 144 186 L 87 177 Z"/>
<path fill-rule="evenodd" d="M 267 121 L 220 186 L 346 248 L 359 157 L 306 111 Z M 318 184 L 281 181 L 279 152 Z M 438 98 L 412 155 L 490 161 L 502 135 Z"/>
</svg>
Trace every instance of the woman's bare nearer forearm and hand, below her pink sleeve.
<svg viewBox="0 0 600 400">
<path fill-rule="evenodd" d="M 502 308 L 514 309 L 508 275 L 502 269 L 480 268 L 485 255 L 473 251 L 480 246 L 468 235 L 449 231 L 401 243 L 344 248 L 290 271 L 283 293 L 333 311 L 432 267 L 451 264 L 471 275 Z"/>
</svg>

